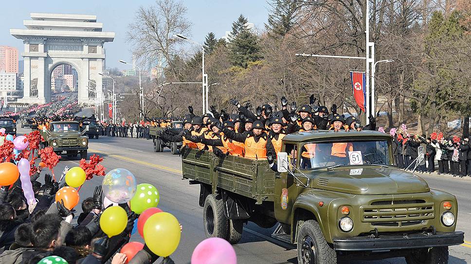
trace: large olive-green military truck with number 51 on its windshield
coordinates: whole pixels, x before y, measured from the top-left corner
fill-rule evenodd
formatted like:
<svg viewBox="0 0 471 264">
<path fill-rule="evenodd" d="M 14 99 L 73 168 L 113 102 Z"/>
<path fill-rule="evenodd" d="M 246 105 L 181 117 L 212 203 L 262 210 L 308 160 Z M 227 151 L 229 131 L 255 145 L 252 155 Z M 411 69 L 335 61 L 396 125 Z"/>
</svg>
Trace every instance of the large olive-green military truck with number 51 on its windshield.
<svg viewBox="0 0 471 264">
<path fill-rule="evenodd" d="M 277 225 L 272 237 L 297 244 L 298 263 L 405 257 L 448 263 L 458 204 L 400 170 L 381 132 L 296 132 L 283 138 L 274 172 L 266 160 L 187 149 L 183 178 L 200 184 L 206 236 L 237 243 L 243 224 Z"/>
</svg>

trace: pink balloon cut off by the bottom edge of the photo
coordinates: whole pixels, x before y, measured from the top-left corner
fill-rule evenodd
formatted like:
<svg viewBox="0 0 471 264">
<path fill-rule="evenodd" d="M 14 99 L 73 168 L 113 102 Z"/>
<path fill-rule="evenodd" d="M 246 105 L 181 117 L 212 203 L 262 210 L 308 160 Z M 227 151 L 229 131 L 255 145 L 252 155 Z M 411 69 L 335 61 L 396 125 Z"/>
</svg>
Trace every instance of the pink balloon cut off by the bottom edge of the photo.
<svg viewBox="0 0 471 264">
<path fill-rule="evenodd" d="M 219 263 L 237 264 L 234 247 L 219 237 L 210 237 L 201 241 L 191 255 L 191 264 Z"/>
</svg>

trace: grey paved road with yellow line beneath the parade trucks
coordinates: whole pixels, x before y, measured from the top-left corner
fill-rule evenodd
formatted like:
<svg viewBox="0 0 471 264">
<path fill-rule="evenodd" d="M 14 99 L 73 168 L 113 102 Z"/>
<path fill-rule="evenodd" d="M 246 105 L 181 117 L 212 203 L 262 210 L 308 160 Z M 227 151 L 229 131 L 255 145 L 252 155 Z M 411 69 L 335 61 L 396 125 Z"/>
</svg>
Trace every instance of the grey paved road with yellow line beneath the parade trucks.
<svg viewBox="0 0 471 264">
<path fill-rule="evenodd" d="M 21 131 L 18 131 L 21 132 Z M 28 132 L 28 130 L 24 130 Z M 90 140 L 89 155 L 97 153 L 104 156 L 103 165 L 107 171 L 113 168 L 126 168 L 134 173 L 138 183 L 151 183 L 156 186 L 161 195 L 159 208 L 174 214 L 183 232 L 180 246 L 172 258 L 175 263 L 188 263 L 193 249 L 205 239 L 202 225 L 202 208 L 198 205 L 199 186 L 189 185 L 181 180 L 181 162 L 177 155 L 172 155 L 168 149 L 165 152 L 152 151 L 152 142 L 143 139 L 109 138 Z M 78 160 L 64 160 L 57 165 L 56 174 L 60 174 L 65 165 L 78 165 Z M 471 234 L 471 179 L 451 179 L 450 177 L 423 176 L 432 188 L 448 191 L 456 195 L 459 203 L 458 230 Z M 92 196 L 93 187 L 101 183 L 100 177 L 87 181 L 80 191 L 81 200 Z M 80 212 L 80 206 L 76 209 Z M 282 264 L 297 263 L 294 247 L 280 244 L 270 238 L 272 229 L 266 230 L 249 224 L 244 228 L 240 243 L 235 245 L 239 264 Z M 471 241 L 471 235 L 466 235 Z M 143 239 L 138 233 L 131 241 Z M 450 248 L 450 263 L 471 263 L 471 243 Z M 364 263 L 353 262 L 353 263 Z M 405 264 L 403 258 L 368 262 L 371 264 Z"/>
</svg>

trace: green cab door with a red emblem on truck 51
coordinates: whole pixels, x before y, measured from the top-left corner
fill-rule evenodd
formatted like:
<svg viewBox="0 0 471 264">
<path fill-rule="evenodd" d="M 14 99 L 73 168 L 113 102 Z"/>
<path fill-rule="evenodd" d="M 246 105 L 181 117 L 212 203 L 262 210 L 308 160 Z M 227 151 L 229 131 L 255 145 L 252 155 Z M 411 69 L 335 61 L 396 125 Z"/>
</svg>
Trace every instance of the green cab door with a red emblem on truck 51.
<svg viewBox="0 0 471 264">
<path fill-rule="evenodd" d="M 293 166 L 299 165 L 298 149 L 295 144 L 284 143 L 283 152 L 288 153 L 288 172 L 275 173 L 275 202 L 274 211 L 276 219 L 281 223 L 290 224 L 291 210 L 297 197 L 297 186 L 291 172 L 295 172 Z"/>
</svg>

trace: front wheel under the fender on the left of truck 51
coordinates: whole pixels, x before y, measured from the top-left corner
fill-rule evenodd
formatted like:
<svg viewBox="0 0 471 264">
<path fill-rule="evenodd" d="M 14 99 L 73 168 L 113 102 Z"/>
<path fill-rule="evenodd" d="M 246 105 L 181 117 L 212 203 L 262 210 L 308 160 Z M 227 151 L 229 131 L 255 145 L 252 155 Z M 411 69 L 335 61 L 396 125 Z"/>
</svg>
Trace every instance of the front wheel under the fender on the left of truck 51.
<svg viewBox="0 0 471 264">
<path fill-rule="evenodd" d="M 327 244 L 319 224 L 314 220 L 303 223 L 298 231 L 299 264 L 336 264 L 337 253 Z"/>
</svg>

